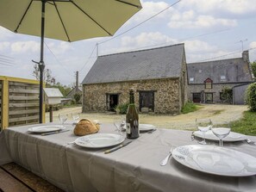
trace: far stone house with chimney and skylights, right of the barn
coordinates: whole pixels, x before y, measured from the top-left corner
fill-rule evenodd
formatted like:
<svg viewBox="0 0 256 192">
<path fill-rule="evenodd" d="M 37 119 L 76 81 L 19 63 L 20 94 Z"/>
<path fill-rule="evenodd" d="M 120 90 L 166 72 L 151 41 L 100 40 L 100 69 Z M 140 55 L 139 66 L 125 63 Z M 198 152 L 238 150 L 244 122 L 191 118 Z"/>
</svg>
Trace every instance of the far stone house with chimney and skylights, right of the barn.
<svg viewBox="0 0 256 192">
<path fill-rule="evenodd" d="M 245 90 L 254 78 L 248 51 L 241 58 L 190 63 L 187 71 L 188 99 L 193 102 L 243 104 Z M 230 90 L 230 100 L 225 90 Z"/>
</svg>

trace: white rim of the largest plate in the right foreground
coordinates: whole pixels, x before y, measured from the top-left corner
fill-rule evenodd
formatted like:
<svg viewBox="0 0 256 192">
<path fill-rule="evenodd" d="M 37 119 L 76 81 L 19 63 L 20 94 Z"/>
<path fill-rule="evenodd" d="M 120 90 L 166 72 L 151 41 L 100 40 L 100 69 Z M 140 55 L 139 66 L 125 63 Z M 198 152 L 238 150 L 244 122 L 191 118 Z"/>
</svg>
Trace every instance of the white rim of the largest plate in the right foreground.
<svg viewBox="0 0 256 192">
<path fill-rule="evenodd" d="M 189 167 L 192 170 L 198 170 L 204 173 L 209 173 L 212 175 L 217 175 L 217 176 L 225 176 L 225 177 L 249 177 L 249 176 L 254 176 L 256 175 L 256 170 L 254 171 L 247 171 L 247 173 L 242 173 L 240 172 L 240 174 L 231 174 L 231 173 L 221 173 L 221 172 L 217 172 L 217 171 L 212 171 L 212 170 L 203 170 L 202 168 L 200 168 L 199 165 L 196 166 L 192 166 L 191 164 L 186 163 L 186 161 L 184 160 L 184 157 L 186 157 L 184 154 L 181 154 L 180 152 L 178 152 L 178 148 L 179 147 L 190 147 L 190 148 L 202 148 L 203 151 L 205 151 L 206 148 L 208 148 L 207 150 L 224 150 L 226 152 L 230 152 L 232 153 L 232 155 L 236 154 L 237 157 L 236 159 L 240 159 L 241 156 L 245 156 L 242 160 L 247 161 L 248 158 L 251 159 L 255 159 L 255 163 L 256 163 L 256 158 L 254 158 L 253 156 L 244 153 L 244 152 L 239 152 L 239 151 L 235 151 L 233 149 L 228 149 L 228 148 L 224 148 L 224 147 L 220 147 L 220 146 L 201 146 L 201 145 L 190 145 L 190 146 L 178 146 L 176 147 L 173 151 L 172 151 L 172 158 L 174 158 L 179 164 L 183 164 L 186 167 Z M 191 157 L 190 157 L 191 158 Z M 193 158 L 192 158 L 193 159 Z M 195 159 L 193 159 L 194 162 Z M 240 162 L 240 163 L 244 163 L 244 162 Z M 196 163 L 197 164 L 197 163 Z M 199 168 L 198 168 L 199 167 Z"/>
</svg>

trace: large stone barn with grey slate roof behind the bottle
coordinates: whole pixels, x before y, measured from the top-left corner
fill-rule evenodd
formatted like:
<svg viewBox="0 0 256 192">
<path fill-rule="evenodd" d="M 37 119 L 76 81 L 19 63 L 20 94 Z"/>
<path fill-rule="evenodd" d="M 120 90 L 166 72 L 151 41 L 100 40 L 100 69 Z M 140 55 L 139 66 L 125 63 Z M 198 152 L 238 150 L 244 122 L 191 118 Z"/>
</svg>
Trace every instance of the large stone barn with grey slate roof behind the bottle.
<svg viewBox="0 0 256 192">
<path fill-rule="evenodd" d="M 134 88 L 140 112 L 178 114 L 187 101 L 184 44 L 100 56 L 82 84 L 83 112 L 114 111 Z"/>
</svg>

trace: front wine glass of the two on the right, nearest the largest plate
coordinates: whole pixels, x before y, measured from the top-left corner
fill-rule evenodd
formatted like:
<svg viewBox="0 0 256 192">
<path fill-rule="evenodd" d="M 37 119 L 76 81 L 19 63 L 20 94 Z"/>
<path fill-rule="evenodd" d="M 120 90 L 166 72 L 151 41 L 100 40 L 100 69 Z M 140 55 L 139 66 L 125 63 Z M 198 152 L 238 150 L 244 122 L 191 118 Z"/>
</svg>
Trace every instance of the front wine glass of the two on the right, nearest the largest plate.
<svg viewBox="0 0 256 192">
<path fill-rule="evenodd" d="M 227 137 L 231 131 L 230 124 L 229 122 L 214 124 L 211 131 L 220 139 L 219 145 L 223 146 L 223 138 Z"/>
</svg>

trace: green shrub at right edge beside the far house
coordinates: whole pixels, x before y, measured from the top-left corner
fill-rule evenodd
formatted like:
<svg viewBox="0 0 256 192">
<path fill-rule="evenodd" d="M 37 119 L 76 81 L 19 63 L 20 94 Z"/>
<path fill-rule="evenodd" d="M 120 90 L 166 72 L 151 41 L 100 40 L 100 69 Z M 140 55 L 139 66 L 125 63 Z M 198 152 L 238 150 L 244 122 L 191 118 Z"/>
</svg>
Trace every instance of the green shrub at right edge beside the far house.
<svg viewBox="0 0 256 192">
<path fill-rule="evenodd" d="M 250 111 L 256 112 L 256 83 L 248 86 L 246 92 L 246 103 Z"/>
</svg>

